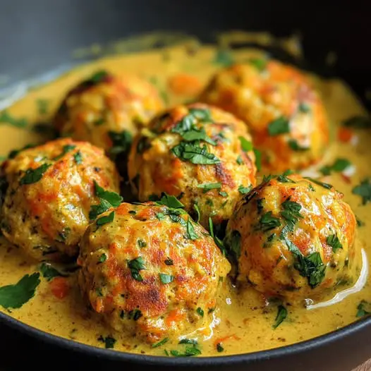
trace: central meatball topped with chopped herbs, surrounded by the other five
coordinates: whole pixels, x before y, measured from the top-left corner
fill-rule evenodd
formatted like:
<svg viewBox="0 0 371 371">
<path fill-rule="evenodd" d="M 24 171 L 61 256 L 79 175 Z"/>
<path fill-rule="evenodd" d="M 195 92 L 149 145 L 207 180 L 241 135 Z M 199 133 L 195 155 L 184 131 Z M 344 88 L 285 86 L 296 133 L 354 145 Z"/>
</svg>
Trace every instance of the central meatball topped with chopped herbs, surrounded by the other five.
<svg viewBox="0 0 371 371">
<path fill-rule="evenodd" d="M 255 185 L 255 154 L 243 122 L 205 104 L 178 106 L 154 118 L 133 141 L 128 174 L 140 201 L 163 192 L 216 224 L 229 219 Z"/>
</svg>

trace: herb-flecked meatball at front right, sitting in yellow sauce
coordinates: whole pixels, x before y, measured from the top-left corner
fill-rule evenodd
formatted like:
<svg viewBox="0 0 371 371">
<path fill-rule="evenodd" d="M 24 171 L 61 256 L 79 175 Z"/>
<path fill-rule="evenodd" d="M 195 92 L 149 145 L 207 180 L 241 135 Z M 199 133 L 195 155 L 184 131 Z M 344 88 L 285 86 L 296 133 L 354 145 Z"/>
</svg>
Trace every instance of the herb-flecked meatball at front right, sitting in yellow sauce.
<svg viewBox="0 0 371 371">
<path fill-rule="evenodd" d="M 355 216 L 342 198 L 298 175 L 266 178 L 238 202 L 226 229 L 238 281 L 296 302 L 353 279 Z"/>
</svg>

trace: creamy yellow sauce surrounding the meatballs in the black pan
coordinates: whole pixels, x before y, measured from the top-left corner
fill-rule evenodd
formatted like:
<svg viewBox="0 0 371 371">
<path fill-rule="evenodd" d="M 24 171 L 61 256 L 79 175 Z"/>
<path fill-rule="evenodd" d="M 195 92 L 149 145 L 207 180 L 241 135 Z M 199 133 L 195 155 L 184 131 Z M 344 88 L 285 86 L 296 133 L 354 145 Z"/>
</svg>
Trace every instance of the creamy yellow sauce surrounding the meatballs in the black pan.
<svg viewBox="0 0 371 371">
<path fill-rule="evenodd" d="M 73 85 L 99 69 L 106 69 L 113 73 L 135 73 L 150 80 L 163 95 L 166 95 L 168 106 L 187 102 L 193 97 L 172 95 L 167 88 L 166 81 L 172 75 L 183 72 L 194 75 L 202 85 L 205 85 L 210 75 L 219 68 L 216 63 L 213 63 L 215 53 L 214 47 L 201 47 L 195 54 L 189 55 L 183 46 L 177 46 L 166 49 L 166 51 L 111 56 L 77 68 L 48 85 L 32 90 L 26 97 L 13 104 L 8 112 L 17 118 L 27 118 L 30 126 L 31 123 L 40 121 L 40 119 L 47 121 L 61 102 L 63 95 Z M 257 51 L 239 49 L 234 55 L 237 61 L 245 61 L 250 56 L 257 56 Z M 371 224 L 371 204 L 361 205 L 360 197 L 351 193 L 355 185 L 371 174 L 369 169 L 371 135 L 367 130 L 358 130 L 355 132 L 357 140 L 351 143 L 344 144 L 335 139 L 335 133 L 341 121 L 351 116 L 365 114 L 365 109 L 343 82 L 319 80 L 318 78 L 314 80 L 317 89 L 322 94 L 332 125 L 332 144 L 319 166 L 331 164 L 337 157 L 346 157 L 355 166 L 351 183 L 346 183 L 341 174 L 328 176 L 324 178 L 324 181 L 332 183 L 337 190 L 344 193 L 345 200 L 351 205 L 355 215 L 365 222 L 365 226 L 358 228 L 357 243 L 365 248 L 371 262 L 371 240 L 368 231 L 368 226 Z M 38 99 L 49 101 L 48 114 L 40 116 L 37 110 Z M 30 127 L 22 129 L 6 125 L 0 126 L 0 138 L 0 154 L 4 157 L 14 148 L 23 147 L 30 142 L 38 143 L 45 140 L 42 135 L 32 132 Z M 31 262 L 19 249 L 12 247 L 4 240 L 1 241 L 0 262 L 0 286 L 15 284 L 23 275 L 38 269 L 37 264 Z M 164 349 L 178 348 L 176 343 L 166 343 L 159 348 L 151 348 L 135 338 L 127 339 L 120 334 L 115 334 L 86 308 L 80 298 L 75 274 L 71 275 L 68 281 L 71 291 L 66 298 L 56 298 L 51 293 L 50 283 L 42 279 L 35 297 L 22 308 L 11 310 L 11 312 L 3 308 L 0 310 L 37 329 L 92 346 L 104 346 L 104 343 L 98 340 L 102 335 L 113 336 L 117 340 L 114 346 L 117 351 L 164 355 Z M 345 286 L 345 288 L 348 287 Z M 329 298 L 333 295 L 334 293 L 330 294 Z M 335 305 L 315 310 L 288 307 L 287 320 L 274 330 L 272 325 L 276 317 L 276 307 L 266 308 L 262 296 L 253 289 L 238 293 L 230 285 L 226 292 L 220 294 L 219 310 L 215 312 L 212 332 L 205 332 L 207 336 L 204 341 L 201 341 L 202 355 L 261 351 L 326 334 L 355 321 L 358 303 L 367 298 L 371 298 L 369 281 L 363 290 Z M 224 339 L 222 341 L 223 353 L 217 353 L 216 350 L 216 343 L 220 339 Z"/>
</svg>

